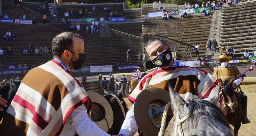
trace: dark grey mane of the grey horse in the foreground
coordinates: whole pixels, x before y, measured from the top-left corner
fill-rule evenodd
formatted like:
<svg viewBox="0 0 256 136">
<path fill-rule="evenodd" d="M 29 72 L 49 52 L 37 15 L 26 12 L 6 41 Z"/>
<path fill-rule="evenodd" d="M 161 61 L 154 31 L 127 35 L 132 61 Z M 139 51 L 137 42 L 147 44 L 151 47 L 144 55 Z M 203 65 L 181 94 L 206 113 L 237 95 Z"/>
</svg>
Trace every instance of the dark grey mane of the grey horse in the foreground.
<svg viewBox="0 0 256 136">
<path fill-rule="evenodd" d="M 195 114 L 196 111 L 198 111 L 198 113 Z M 198 114 L 205 114 L 205 116 L 208 118 L 208 123 L 213 124 L 216 128 L 218 128 L 219 131 L 223 132 L 221 126 L 217 125 L 218 123 L 222 123 L 228 129 L 232 130 L 219 107 L 210 101 L 193 99 L 189 102 L 187 120 L 194 120 L 193 123 L 196 123 L 195 125 L 197 125 L 200 118 L 200 116 L 197 116 Z"/>
</svg>

